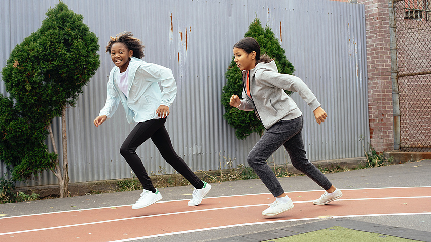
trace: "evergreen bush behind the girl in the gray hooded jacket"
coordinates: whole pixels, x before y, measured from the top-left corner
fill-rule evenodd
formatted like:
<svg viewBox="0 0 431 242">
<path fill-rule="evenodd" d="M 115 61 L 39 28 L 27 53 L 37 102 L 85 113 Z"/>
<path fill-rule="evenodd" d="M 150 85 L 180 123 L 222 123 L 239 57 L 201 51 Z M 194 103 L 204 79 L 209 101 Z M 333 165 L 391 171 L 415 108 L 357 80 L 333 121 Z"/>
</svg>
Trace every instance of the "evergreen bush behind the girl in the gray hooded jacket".
<svg viewBox="0 0 431 242">
<path fill-rule="evenodd" d="M 268 25 L 264 29 L 259 19 L 255 18 L 248 27 L 248 31 L 244 37 L 253 37 L 256 39 L 261 47 L 261 55 L 266 53 L 269 57 L 274 58 L 279 73 L 293 74 L 295 68 L 284 55 L 285 50 L 281 48 L 278 39 L 275 38 L 274 33 Z M 245 112 L 229 105 L 232 94 L 238 95 L 242 99 L 241 94 L 243 90 L 242 74 L 236 66 L 234 58 L 232 57 L 232 61 L 225 73 L 227 83 L 223 87 L 221 102 L 225 107 L 223 117 L 235 129 L 236 137 L 242 140 L 253 132 L 262 135 L 265 128 L 262 122 L 256 117 L 254 111 Z M 290 92 L 286 93 L 290 94 Z"/>
</svg>

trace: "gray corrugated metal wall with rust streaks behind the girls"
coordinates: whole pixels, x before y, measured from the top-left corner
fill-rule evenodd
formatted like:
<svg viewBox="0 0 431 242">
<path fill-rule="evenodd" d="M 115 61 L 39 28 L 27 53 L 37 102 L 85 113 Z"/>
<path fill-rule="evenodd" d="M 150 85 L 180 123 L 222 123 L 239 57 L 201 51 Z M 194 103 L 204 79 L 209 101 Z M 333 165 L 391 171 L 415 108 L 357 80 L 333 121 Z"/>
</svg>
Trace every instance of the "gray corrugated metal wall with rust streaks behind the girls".
<svg viewBox="0 0 431 242">
<path fill-rule="evenodd" d="M 70 182 L 131 176 L 119 147 L 134 125 L 124 110 L 99 128 L 93 119 L 103 107 L 106 81 L 114 66 L 105 46 L 110 36 L 131 31 L 145 44 L 143 60 L 172 69 L 178 95 L 171 107 L 167 129 L 177 153 L 193 171 L 219 169 L 223 156 L 245 164 L 257 142 L 252 135 L 237 140 L 223 119 L 220 104 L 224 73 L 232 59 L 232 46 L 244 36 L 255 17 L 268 24 L 286 50 L 286 56 L 315 93 L 329 117 L 317 125 L 312 110 L 293 94 L 304 113 L 303 137 L 310 160 L 362 157 L 361 135 L 369 140 L 364 6 L 326 0 L 244 1 L 114 1 L 64 3 L 99 37 L 102 64 L 74 108 L 67 110 Z M 37 30 L 57 0 L 1 1 L 0 67 L 11 49 Z M 3 83 L 0 91 L 5 94 Z M 59 137 L 59 120 L 54 122 Z M 148 171 L 171 168 L 151 141 L 138 154 Z M 220 155 L 220 156 L 219 156 Z M 288 161 L 286 152 L 274 154 L 276 164 Z M 272 160 L 272 159 L 271 159 Z M 236 166 L 235 164 L 235 166 Z M 222 163 L 223 166 L 223 163 Z M 2 174 L 4 166 L 0 168 Z M 51 172 L 27 185 L 56 184 Z"/>
</svg>

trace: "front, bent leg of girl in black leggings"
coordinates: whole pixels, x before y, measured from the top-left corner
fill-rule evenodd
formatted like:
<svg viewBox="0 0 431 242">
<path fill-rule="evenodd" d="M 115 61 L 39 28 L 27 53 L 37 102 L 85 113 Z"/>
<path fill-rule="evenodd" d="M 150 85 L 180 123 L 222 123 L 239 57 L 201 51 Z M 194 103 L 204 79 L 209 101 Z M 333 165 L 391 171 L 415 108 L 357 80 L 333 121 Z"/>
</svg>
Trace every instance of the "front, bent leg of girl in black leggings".
<svg viewBox="0 0 431 242">
<path fill-rule="evenodd" d="M 155 192 L 156 189 L 154 188 L 147 171 L 143 167 L 142 161 L 136 154 L 136 149 L 143 142 L 148 140 L 156 130 L 160 129 L 161 124 L 157 122 L 157 120 L 158 119 L 152 119 L 146 122 L 139 122 L 127 136 L 126 140 L 124 140 L 120 148 L 121 155 L 132 168 L 132 171 L 142 184 L 143 189 L 152 192 Z"/>
</svg>

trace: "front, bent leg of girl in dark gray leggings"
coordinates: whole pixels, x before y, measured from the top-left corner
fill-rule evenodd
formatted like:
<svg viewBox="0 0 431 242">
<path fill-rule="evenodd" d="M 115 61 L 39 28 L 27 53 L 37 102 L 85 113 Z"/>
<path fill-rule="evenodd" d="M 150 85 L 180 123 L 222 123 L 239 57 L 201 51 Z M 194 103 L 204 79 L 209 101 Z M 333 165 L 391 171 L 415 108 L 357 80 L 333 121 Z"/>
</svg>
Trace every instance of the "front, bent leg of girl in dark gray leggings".
<svg viewBox="0 0 431 242">
<path fill-rule="evenodd" d="M 296 120 L 296 119 L 294 119 Z M 274 197 L 285 196 L 284 190 L 266 160 L 287 140 L 297 134 L 293 120 L 280 121 L 269 128 L 248 154 L 247 162 Z"/>
</svg>

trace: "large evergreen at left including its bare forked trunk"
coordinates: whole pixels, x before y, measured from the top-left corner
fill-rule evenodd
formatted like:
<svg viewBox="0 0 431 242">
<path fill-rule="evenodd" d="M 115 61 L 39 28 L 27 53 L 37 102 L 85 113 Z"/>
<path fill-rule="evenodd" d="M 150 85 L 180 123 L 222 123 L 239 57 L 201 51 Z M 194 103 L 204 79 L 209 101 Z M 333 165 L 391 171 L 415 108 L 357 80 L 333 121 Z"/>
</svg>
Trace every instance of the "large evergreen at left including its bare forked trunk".
<svg viewBox="0 0 431 242">
<path fill-rule="evenodd" d="M 2 70 L 10 97 L 0 96 L 0 160 L 11 167 L 13 180 L 51 169 L 63 197 L 69 180 L 65 108 L 76 104 L 83 86 L 100 66 L 99 44 L 82 15 L 63 2 L 46 15 L 42 26 L 12 50 Z M 45 145 L 52 119 L 58 116 L 65 141 L 63 171 L 55 143 L 54 153 Z"/>
</svg>

